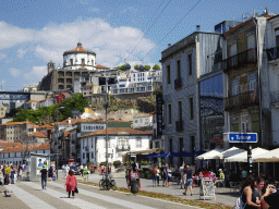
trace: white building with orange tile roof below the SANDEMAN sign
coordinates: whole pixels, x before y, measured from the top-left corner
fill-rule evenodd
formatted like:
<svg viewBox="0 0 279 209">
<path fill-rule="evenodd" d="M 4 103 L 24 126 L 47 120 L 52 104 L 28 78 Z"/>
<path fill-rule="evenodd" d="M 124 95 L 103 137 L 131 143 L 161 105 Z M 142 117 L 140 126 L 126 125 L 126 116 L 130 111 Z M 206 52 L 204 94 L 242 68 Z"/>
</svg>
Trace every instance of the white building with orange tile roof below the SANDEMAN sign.
<svg viewBox="0 0 279 209">
<path fill-rule="evenodd" d="M 130 127 L 108 127 L 108 161 L 119 160 L 129 151 L 149 149 L 151 131 Z M 82 163 L 100 163 L 106 161 L 106 128 L 81 137 Z"/>
</svg>

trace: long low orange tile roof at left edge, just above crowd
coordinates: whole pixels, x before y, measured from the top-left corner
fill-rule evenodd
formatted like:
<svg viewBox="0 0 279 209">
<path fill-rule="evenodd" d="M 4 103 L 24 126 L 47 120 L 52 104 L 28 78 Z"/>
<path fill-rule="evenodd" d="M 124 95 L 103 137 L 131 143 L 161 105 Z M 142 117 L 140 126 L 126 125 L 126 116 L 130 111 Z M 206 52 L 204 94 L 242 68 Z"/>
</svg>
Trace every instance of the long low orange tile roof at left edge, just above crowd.
<svg viewBox="0 0 279 209">
<path fill-rule="evenodd" d="M 3 146 L 4 145 L 4 146 Z M 4 150 L 1 152 L 19 152 L 19 151 L 25 151 L 26 145 L 23 145 L 21 143 L 8 143 L 9 146 L 5 146 L 5 144 L 1 144 L 2 147 L 4 147 Z M 44 150 L 44 149 L 50 149 L 50 144 L 34 144 L 28 145 L 28 150 Z"/>
</svg>

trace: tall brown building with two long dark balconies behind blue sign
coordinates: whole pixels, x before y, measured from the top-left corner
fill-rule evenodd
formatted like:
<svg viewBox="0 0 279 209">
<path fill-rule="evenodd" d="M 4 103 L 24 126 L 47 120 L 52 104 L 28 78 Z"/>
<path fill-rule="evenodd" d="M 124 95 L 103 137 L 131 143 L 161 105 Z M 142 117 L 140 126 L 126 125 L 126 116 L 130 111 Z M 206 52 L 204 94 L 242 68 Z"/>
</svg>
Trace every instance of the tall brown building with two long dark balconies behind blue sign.
<svg viewBox="0 0 279 209">
<path fill-rule="evenodd" d="M 226 74 L 226 131 L 257 133 L 258 143 L 253 144 L 255 147 L 269 147 L 272 138 L 270 88 L 272 91 L 278 89 L 274 83 L 277 73 L 274 66 L 268 71 L 264 52 L 267 42 L 276 46 L 271 20 L 268 25 L 271 16 L 265 13 L 252 17 L 223 34 L 223 54 L 227 58 L 222 67 Z M 277 130 L 277 125 L 274 128 Z"/>
</svg>

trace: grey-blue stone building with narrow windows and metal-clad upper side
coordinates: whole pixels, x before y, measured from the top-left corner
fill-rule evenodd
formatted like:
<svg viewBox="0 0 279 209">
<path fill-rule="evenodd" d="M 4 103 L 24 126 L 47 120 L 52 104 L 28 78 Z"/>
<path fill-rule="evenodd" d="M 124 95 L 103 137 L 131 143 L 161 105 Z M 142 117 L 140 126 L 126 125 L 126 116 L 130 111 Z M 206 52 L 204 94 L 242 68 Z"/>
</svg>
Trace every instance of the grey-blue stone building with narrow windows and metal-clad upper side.
<svg viewBox="0 0 279 209">
<path fill-rule="evenodd" d="M 193 152 L 203 148 L 199 134 L 198 78 L 213 69 L 207 62 L 219 53 L 220 33 L 197 30 L 161 53 L 165 151 Z M 167 158 L 172 165 L 182 164 L 182 158 Z M 185 158 L 193 164 L 193 159 Z"/>
</svg>

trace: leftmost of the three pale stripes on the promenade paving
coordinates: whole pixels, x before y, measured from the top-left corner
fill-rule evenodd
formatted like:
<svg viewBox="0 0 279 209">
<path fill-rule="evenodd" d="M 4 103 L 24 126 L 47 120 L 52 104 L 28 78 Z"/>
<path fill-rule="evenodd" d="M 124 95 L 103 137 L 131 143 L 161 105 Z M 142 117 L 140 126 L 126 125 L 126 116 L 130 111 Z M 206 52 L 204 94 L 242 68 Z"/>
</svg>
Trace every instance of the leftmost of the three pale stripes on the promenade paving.
<svg viewBox="0 0 279 209">
<path fill-rule="evenodd" d="M 47 208 L 47 209 L 56 209 L 49 204 L 43 201 L 41 199 L 35 197 L 34 195 L 26 193 L 26 190 L 15 186 L 15 184 L 11 184 L 9 186 L 9 190 L 12 190 L 12 195 L 15 195 L 19 199 L 21 199 L 26 206 L 31 209 L 38 209 L 38 208 Z"/>
</svg>

